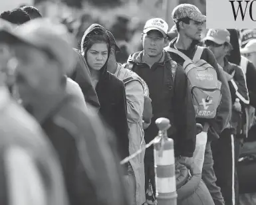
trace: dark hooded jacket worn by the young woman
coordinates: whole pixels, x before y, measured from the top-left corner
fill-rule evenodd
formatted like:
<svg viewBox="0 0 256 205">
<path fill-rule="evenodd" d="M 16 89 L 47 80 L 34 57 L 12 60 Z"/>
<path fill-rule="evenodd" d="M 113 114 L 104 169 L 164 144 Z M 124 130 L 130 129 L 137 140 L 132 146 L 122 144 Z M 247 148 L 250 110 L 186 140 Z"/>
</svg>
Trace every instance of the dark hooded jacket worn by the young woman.
<svg viewBox="0 0 256 205">
<path fill-rule="evenodd" d="M 106 30 L 97 24 L 91 25 L 84 33 L 83 46 L 86 54 L 88 47 L 87 42 L 90 33 L 106 33 Z M 106 33 L 107 34 L 107 33 Z M 108 46 L 108 56 L 110 54 L 110 38 Z M 96 94 L 100 102 L 99 113 L 104 121 L 114 131 L 118 142 L 118 150 L 121 159 L 129 156 L 129 139 L 128 139 L 128 122 L 126 117 L 126 94 L 124 83 L 107 71 L 107 64 L 100 70 L 100 78 L 96 85 Z"/>
</svg>

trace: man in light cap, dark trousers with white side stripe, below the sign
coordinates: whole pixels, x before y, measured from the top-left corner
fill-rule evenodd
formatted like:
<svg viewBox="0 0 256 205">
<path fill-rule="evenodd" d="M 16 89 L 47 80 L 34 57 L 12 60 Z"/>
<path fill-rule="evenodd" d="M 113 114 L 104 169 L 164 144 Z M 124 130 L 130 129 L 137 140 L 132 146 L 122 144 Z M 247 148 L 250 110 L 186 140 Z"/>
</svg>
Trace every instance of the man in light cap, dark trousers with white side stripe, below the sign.
<svg viewBox="0 0 256 205">
<path fill-rule="evenodd" d="M 230 43 L 230 33 L 227 29 L 209 29 L 203 39 L 205 46 L 209 48 L 224 72 L 229 76 L 229 90 L 231 92 L 232 113 L 231 120 L 221 132 L 219 139 L 211 143 L 213 153 L 214 171 L 217 176 L 216 184 L 221 188 L 221 193 L 226 204 L 234 204 L 238 198 L 238 184 L 236 174 L 239 145 L 242 133 L 243 107 L 249 104 L 249 96 L 245 75 L 241 67 L 227 60 L 227 56 L 233 49 Z M 241 106 L 243 105 L 243 106 Z"/>
</svg>

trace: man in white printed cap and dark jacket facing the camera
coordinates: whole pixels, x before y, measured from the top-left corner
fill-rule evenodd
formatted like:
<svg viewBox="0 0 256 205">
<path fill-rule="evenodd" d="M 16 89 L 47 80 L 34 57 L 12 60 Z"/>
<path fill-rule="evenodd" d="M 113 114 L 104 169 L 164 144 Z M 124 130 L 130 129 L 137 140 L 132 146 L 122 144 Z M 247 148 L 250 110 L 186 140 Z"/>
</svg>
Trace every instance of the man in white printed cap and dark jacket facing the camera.
<svg viewBox="0 0 256 205">
<path fill-rule="evenodd" d="M 172 127 L 168 137 L 174 139 L 176 156 L 180 161 L 192 163 L 195 149 L 195 111 L 188 90 L 188 79 L 164 47 L 168 44 L 168 24 L 160 18 L 146 22 L 142 33 L 143 50 L 131 54 L 126 68 L 133 70 L 148 85 L 152 99 L 152 123 L 145 130 L 145 141 L 149 143 L 158 133 L 154 123 L 158 117 L 170 119 Z M 175 79 L 175 80 L 174 80 Z M 153 147 L 146 149 L 145 189 L 149 179 L 155 194 Z"/>
</svg>

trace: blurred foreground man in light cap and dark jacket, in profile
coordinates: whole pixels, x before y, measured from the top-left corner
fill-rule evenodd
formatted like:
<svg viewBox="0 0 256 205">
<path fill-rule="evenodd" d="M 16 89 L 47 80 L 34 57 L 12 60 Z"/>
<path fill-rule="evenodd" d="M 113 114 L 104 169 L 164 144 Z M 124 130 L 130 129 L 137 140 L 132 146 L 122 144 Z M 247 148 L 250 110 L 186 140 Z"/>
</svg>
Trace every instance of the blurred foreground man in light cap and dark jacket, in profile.
<svg viewBox="0 0 256 205">
<path fill-rule="evenodd" d="M 66 93 L 64 74 L 72 70 L 76 59 L 66 27 L 35 19 L 15 31 L 1 30 L 3 40 L 15 52 L 16 84 L 23 105 L 39 121 L 59 157 L 69 203 L 108 204 L 100 196 L 107 194 L 109 202 L 122 204 L 110 194 L 121 185 L 110 180 L 119 173 L 118 165 L 101 122 Z M 102 193 L 102 184 L 112 188 Z"/>
</svg>

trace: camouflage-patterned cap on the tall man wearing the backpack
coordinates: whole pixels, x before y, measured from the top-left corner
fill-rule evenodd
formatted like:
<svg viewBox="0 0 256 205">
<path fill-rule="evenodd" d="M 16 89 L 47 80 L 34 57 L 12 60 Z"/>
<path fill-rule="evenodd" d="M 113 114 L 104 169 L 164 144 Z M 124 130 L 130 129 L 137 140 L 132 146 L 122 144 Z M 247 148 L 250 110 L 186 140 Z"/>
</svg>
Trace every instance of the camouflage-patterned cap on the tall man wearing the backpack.
<svg viewBox="0 0 256 205">
<path fill-rule="evenodd" d="M 188 17 L 193 21 L 203 22 L 206 21 L 206 16 L 201 14 L 201 11 L 195 5 L 189 3 L 182 3 L 174 8 L 172 11 L 172 19 L 178 22 L 180 19 Z"/>
</svg>

